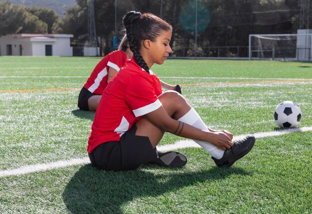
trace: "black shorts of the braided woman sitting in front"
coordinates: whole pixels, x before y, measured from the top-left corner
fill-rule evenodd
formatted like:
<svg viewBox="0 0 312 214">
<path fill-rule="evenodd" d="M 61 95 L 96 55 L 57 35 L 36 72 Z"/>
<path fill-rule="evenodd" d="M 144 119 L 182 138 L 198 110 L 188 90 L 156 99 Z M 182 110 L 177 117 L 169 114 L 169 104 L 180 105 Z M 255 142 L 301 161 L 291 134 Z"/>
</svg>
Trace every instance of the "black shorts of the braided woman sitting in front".
<svg viewBox="0 0 312 214">
<path fill-rule="evenodd" d="M 122 135 L 120 141 L 97 146 L 89 158 L 93 166 L 107 171 L 135 170 L 142 164 L 155 161 L 157 155 L 148 137 L 135 135 L 136 125 Z"/>
</svg>

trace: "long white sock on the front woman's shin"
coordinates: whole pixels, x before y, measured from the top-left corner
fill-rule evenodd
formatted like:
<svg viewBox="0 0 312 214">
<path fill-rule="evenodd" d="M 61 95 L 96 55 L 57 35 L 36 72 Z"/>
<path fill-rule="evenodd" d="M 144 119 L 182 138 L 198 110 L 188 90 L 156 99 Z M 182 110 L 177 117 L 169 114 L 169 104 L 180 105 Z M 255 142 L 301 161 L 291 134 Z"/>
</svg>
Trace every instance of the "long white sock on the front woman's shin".
<svg viewBox="0 0 312 214">
<path fill-rule="evenodd" d="M 200 116 L 197 114 L 197 112 L 191 108 L 184 116 L 182 116 L 178 121 L 181 121 L 183 123 L 186 123 L 190 126 L 193 126 L 197 129 L 202 129 L 208 131 L 208 128 L 204 124 L 204 122 L 201 120 Z M 206 142 L 206 141 L 195 141 L 199 146 L 204 148 L 206 152 L 210 153 L 212 157 L 216 159 L 220 159 L 223 157 L 224 151 L 212 143 Z"/>
</svg>

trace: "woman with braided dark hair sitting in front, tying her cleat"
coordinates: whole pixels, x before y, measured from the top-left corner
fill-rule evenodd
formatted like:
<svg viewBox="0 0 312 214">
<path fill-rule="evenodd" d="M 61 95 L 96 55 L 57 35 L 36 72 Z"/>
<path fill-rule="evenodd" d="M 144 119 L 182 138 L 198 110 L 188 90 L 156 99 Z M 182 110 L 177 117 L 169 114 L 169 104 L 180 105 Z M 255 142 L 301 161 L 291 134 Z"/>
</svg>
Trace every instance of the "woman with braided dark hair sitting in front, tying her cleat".
<svg viewBox="0 0 312 214">
<path fill-rule="evenodd" d="M 142 164 L 182 167 L 187 159 L 179 152 L 158 152 L 164 132 L 193 139 L 218 167 L 230 167 L 253 147 L 247 136 L 232 142 L 228 131 L 206 127 L 182 95 L 161 91 L 150 70 L 167 59 L 171 48 L 170 24 L 151 14 L 130 11 L 124 19 L 134 56 L 103 92 L 89 136 L 91 163 L 103 170 L 134 170 Z"/>
</svg>

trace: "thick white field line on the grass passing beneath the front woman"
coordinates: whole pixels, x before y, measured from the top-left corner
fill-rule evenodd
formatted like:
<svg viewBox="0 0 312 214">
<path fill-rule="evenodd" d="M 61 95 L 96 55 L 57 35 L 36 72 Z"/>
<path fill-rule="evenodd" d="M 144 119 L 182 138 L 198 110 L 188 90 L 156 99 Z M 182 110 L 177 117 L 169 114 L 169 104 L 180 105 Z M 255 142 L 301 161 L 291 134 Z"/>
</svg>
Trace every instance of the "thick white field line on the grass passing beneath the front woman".
<svg viewBox="0 0 312 214">
<path fill-rule="evenodd" d="M 273 132 L 260 132 L 260 133 L 255 133 L 253 135 L 257 139 L 257 138 L 285 135 L 285 134 L 292 133 L 292 132 L 308 132 L 308 131 L 312 131 L 312 127 L 285 129 L 285 130 L 273 131 Z M 233 140 L 239 140 L 243 138 L 244 136 L 246 135 L 235 136 Z M 175 150 L 175 149 L 182 149 L 182 148 L 189 148 L 189 147 L 200 147 L 200 146 L 192 140 L 181 140 L 181 141 L 177 141 L 175 144 L 159 146 L 157 147 L 157 149 L 160 151 L 168 151 L 168 150 Z M 57 162 L 49 163 L 49 164 L 29 165 L 29 166 L 20 167 L 17 169 L 0 171 L 0 178 L 5 177 L 5 176 L 24 175 L 24 174 L 33 173 L 33 172 L 40 172 L 40 171 L 64 168 L 64 167 L 68 167 L 72 165 L 89 164 L 89 163 L 90 163 L 90 160 L 89 158 L 86 157 L 86 158 L 72 159 L 72 160 L 67 160 L 67 161 L 66 160 L 57 161 Z"/>
</svg>

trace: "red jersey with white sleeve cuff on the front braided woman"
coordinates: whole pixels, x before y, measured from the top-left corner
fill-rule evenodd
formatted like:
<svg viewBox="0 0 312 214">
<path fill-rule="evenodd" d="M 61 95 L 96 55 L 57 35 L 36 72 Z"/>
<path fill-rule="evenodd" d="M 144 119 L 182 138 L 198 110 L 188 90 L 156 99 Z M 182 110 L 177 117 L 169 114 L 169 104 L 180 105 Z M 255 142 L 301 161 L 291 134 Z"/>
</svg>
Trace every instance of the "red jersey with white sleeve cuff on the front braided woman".
<svg viewBox="0 0 312 214">
<path fill-rule="evenodd" d="M 161 106 L 162 93 L 158 77 L 143 70 L 132 58 L 105 88 L 92 124 L 88 149 L 120 141 L 120 137 L 143 115 Z"/>
</svg>

